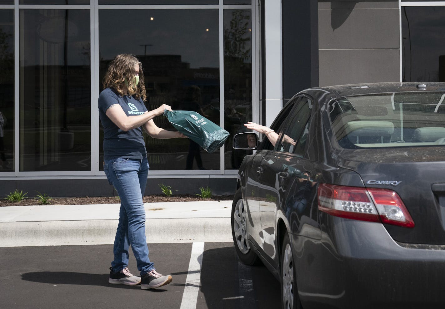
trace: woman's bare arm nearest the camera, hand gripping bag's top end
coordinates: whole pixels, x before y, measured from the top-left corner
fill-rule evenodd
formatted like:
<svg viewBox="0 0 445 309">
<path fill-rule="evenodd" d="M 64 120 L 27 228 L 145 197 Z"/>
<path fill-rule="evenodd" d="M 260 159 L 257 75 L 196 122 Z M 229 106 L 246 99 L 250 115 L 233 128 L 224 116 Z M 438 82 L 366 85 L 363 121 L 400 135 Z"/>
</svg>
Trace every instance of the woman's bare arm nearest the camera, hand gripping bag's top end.
<svg viewBox="0 0 445 309">
<path fill-rule="evenodd" d="M 146 124 L 148 121 L 152 120 L 155 116 L 162 115 L 164 110 L 171 111 L 170 105 L 162 104 L 158 108 L 146 112 L 142 115 L 137 116 L 127 116 L 124 110 L 121 108 L 119 104 L 111 105 L 105 112 L 108 118 L 113 121 L 122 131 L 129 131 L 134 128 L 138 128 L 143 124 Z"/>
</svg>

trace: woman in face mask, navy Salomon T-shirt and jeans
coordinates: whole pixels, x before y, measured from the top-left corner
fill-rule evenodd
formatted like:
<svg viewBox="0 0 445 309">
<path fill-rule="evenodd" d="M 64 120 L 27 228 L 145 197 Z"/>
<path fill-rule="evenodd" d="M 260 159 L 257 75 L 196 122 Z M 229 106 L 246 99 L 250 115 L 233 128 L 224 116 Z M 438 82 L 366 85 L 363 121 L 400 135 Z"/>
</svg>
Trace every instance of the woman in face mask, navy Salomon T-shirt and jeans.
<svg viewBox="0 0 445 309">
<path fill-rule="evenodd" d="M 142 202 L 148 174 L 148 161 L 142 128 L 154 138 L 186 137 L 154 124 L 153 118 L 171 110 L 169 105 L 148 111 L 142 64 L 129 54 L 118 55 L 110 63 L 99 95 L 99 117 L 104 127 L 104 171 L 121 199 L 119 224 L 114 239 L 114 260 L 109 283 L 138 285 L 155 289 L 172 281 L 170 275 L 156 272 L 148 257 L 145 236 L 145 209 Z M 136 257 L 141 277 L 127 268 L 129 245 Z"/>
</svg>

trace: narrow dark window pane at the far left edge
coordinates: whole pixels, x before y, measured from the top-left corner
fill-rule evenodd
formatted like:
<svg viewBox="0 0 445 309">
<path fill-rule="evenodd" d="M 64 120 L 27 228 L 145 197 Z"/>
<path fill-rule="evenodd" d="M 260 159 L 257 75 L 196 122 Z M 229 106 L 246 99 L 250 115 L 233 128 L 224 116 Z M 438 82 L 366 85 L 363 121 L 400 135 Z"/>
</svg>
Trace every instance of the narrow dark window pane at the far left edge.
<svg viewBox="0 0 445 309">
<path fill-rule="evenodd" d="M 0 10 L 0 172 L 14 171 L 14 10 Z"/>
</svg>

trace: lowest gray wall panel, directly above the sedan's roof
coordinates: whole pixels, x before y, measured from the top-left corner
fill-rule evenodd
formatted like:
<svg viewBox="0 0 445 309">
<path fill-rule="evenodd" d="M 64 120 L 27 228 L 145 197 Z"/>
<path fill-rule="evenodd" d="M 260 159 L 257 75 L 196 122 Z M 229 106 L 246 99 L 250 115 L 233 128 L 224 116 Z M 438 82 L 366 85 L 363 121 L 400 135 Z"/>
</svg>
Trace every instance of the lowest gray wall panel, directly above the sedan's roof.
<svg viewBox="0 0 445 309">
<path fill-rule="evenodd" d="M 398 49 L 320 50 L 320 86 L 400 80 Z"/>
</svg>

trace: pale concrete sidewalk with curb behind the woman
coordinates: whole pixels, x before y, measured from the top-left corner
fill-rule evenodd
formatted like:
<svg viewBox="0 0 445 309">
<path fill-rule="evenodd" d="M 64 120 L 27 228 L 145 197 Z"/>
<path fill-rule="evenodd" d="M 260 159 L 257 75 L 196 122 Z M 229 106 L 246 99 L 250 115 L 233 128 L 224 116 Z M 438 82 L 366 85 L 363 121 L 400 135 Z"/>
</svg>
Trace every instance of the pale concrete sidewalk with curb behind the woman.
<svg viewBox="0 0 445 309">
<path fill-rule="evenodd" d="M 232 201 L 146 203 L 148 243 L 232 241 Z M 0 207 L 0 247 L 113 244 L 120 204 Z"/>
</svg>

